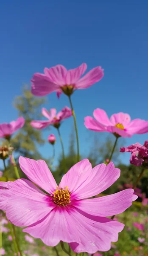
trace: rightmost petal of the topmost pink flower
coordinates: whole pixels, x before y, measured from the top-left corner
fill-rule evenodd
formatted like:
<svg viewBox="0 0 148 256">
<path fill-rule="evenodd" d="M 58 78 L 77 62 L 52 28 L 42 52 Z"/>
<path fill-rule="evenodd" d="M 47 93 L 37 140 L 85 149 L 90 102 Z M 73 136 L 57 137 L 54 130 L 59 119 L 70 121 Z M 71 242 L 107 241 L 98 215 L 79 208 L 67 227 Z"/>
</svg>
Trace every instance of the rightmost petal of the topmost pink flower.
<svg viewBox="0 0 148 256">
<path fill-rule="evenodd" d="M 100 81 L 104 76 L 103 69 L 101 67 L 95 67 L 90 70 L 85 76 L 83 76 L 76 84 L 77 89 L 85 89 L 90 87 L 92 84 Z"/>
</svg>

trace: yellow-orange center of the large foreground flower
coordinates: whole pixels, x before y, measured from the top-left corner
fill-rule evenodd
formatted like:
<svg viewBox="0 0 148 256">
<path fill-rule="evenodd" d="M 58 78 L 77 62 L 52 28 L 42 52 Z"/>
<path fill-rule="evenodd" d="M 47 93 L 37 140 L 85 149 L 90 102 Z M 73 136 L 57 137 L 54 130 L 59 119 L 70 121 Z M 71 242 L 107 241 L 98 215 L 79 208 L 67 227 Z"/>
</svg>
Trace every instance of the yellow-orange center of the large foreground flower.
<svg viewBox="0 0 148 256">
<path fill-rule="evenodd" d="M 64 189 L 57 187 L 53 192 L 53 202 L 59 206 L 70 204 L 70 191 L 67 186 Z"/>
</svg>

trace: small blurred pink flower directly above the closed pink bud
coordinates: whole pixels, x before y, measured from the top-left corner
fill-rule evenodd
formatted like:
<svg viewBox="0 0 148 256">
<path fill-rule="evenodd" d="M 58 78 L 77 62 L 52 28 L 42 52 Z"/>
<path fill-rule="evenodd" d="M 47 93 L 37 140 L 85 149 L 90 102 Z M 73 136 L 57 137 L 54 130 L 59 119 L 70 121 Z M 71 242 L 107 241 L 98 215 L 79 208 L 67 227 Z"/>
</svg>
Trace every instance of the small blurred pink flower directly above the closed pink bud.
<svg viewBox="0 0 148 256">
<path fill-rule="evenodd" d="M 47 121 L 32 121 L 31 126 L 36 129 L 46 128 L 48 125 L 53 125 L 56 128 L 59 127 L 60 122 L 73 115 L 70 108 L 65 107 L 59 113 L 56 114 L 56 108 L 51 108 L 50 113 L 46 108 L 42 108 L 42 115 L 45 116 Z"/>
</svg>

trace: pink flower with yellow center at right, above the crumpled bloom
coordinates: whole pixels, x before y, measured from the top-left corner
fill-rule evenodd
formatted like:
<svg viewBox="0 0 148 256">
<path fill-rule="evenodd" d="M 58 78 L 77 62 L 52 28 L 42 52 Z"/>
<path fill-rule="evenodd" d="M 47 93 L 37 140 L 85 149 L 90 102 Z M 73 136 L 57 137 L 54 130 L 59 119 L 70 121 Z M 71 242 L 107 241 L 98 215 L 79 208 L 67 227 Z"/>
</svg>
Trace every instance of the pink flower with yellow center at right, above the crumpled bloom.
<svg viewBox="0 0 148 256">
<path fill-rule="evenodd" d="M 131 137 L 134 134 L 144 134 L 148 132 L 148 121 L 134 119 L 126 113 L 113 114 L 110 119 L 103 109 L 97 108 L 91 116 L 85 117 L 84 125 L 92 131 L 107 131 L 117 137 Z"/>
</svg>

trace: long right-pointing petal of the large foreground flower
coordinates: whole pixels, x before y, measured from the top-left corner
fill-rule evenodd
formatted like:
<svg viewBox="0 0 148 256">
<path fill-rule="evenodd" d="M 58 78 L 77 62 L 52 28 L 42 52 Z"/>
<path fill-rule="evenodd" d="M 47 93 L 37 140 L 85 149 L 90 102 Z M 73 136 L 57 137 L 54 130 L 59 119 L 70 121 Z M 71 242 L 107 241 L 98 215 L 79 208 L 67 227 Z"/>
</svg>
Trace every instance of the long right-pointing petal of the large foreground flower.
<svg viewBox="0 0 148 256">
<path fill-rule="evenodd" d="M 124 212 L 138 197 L 134 189 L 125 189 L 113 195 L 99 198 L 72 201 L 71 204 L 90 215 L 107 217 Z"/>
</svg>

